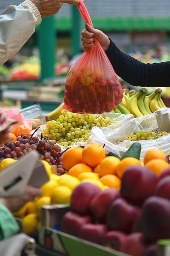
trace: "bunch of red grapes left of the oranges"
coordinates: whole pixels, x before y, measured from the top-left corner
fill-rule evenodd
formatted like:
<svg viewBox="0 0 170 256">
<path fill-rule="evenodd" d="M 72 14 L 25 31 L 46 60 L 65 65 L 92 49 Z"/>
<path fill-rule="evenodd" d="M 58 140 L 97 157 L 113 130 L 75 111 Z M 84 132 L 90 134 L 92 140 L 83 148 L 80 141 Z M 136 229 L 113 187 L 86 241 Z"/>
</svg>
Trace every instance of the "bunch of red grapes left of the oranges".
<svg viewBox="0 0 170 256">
<path fill-rule="evenodd" d="M 40 160 L 45 160 L 52 166 L 56 165 L 58 161 L 57 154 L 61 148 L 56 144 L 56 140 L 49 140 L 48 135 L 45 135 L 42 140 L 37 136 L 28 137 L 24 135 L 18 137 L 16 142 L 11 141 L 0 147 L 0 162 L 5 158 L 17 160 L 31 150 L 37 150 L 40 154 Z"/>
</svg>

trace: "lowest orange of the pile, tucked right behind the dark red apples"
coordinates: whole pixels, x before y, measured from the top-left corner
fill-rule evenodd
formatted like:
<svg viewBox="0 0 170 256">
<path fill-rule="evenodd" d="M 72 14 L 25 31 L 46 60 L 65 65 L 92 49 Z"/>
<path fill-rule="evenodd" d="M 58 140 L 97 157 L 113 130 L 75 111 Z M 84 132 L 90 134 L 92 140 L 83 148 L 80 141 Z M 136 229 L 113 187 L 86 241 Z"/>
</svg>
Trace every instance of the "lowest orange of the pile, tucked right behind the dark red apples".
<svg viewBox="0 0 170 256">
<path fill-rule="evenodd" d="M 109 188 L 120 189 L 121 180 L 116 175 L 105 175 L 100 179 L 103 185 L 108 186 Z"/>
</svg>

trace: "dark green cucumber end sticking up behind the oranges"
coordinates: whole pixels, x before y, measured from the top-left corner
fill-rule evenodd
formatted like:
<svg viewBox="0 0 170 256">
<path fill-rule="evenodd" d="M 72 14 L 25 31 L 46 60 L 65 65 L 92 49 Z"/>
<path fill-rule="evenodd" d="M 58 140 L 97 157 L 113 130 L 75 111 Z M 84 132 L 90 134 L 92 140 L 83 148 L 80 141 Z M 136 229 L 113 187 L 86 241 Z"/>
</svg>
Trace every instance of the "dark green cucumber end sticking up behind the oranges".
<svg viewBox="0 0 170 256">
<path fill-rule="evenodd" d="M 125 152 L 125 154 L 122 155 L 120 160 L 123 160 L 126 157 L 134 157 L 138 160 L 140 160 L 140 154 L 141 154 L 142 146 L 140 143 L 133 143 L 130 148 Z"/>
</svg>

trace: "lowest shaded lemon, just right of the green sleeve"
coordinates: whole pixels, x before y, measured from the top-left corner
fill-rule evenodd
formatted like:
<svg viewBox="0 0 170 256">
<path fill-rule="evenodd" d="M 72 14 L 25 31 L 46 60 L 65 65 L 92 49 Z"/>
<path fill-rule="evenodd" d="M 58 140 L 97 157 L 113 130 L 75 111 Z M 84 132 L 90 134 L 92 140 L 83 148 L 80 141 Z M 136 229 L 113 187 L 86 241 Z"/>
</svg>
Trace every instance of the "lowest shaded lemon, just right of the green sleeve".
<svg viewBox="0 0 170 256">
<path fill-rule="evenodd" d="M 23 233 L 25 233 L 28 236 L 33 235 L 37 232 L 38 227 L 38 216 L 34 213 L 26 215 L 26 217 L 23 218 Z"/>
</svg>

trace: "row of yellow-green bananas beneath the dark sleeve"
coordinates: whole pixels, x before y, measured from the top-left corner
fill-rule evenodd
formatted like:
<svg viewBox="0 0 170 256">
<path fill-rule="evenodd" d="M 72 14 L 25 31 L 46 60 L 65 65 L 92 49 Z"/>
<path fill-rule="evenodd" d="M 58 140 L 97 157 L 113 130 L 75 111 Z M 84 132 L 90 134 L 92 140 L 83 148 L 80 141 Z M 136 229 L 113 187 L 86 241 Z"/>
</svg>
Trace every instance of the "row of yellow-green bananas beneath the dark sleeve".
<svg viewBox="0 0 170 256">
<path fill-rule="evenodd" d="M 166 108 L 161 99 L 161 89 L 156 89 L 152 94 L 147 96 L 147 89 L 124 90 L 122 103 L 114 109 L 114 113 L 133 114 L 134 117 L 145 116 L 161 108 Z"/>
</svg>

